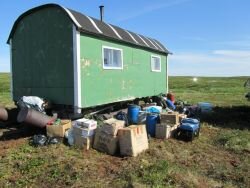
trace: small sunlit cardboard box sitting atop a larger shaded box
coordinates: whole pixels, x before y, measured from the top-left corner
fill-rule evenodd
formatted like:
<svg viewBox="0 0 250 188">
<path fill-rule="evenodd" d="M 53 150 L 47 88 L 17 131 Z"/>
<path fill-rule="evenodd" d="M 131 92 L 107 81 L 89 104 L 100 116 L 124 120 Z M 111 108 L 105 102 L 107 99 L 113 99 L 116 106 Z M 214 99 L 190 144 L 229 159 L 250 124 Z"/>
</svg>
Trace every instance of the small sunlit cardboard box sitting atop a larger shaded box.
<svg viewBox="0 0 250 188">
<path fill-rule="evenodd" d="M 119 129 L 125 126 L 125 121 L 117 120 L 114 118 L 103 121 L 103 126 L 101 127 L 102 131 L 116 136 Z"/>
</svg>

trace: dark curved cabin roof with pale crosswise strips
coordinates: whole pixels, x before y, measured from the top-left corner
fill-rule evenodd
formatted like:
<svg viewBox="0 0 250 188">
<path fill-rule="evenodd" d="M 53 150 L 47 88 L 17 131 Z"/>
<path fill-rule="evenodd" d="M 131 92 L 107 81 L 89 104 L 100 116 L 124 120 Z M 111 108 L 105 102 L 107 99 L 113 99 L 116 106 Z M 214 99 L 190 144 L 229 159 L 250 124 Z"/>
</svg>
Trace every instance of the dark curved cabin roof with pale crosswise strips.
<svg viewBox="0 0 250 188">
<path fill-rule="evenodd" d="M 127 31 L 120 27 L 108 24 L 106 22 L 100 21 L 96 18 L 79 13 L 75 10 L 67 9 L 57 4 L 45 4 L 39 7 L 28 10 L 23 13 L 15 21 L 13 28 L 11 30 L 10 36 L 7 43 L 9 43 L 10 38 L 12 38 L 15 28 L 17 27 L 18 22 L 25 16 L 47 7 L 58 7 L 65 11 L 65 13 L 70 17 L 74 25 L 80 32 L 93 34 L 99 37 L 108 38 L 118 42 L 132 44 L 138 47 L 151 49 L 161 53 L 169 54 L 170 52 L 157 40 L 136 34 L 131 31 Z"/>
</svg>

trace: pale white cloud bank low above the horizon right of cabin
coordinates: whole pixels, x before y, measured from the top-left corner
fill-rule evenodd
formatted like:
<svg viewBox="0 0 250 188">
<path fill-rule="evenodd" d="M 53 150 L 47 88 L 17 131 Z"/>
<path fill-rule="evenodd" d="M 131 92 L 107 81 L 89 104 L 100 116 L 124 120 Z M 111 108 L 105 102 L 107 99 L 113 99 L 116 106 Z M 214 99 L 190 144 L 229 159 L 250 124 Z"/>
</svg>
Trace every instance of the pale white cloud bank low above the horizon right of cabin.
<svg viewBox="0 0 250 188">
<path fill-rule="evenodd" d="M 250 76 L 250 51 L 184 52 L 169 57 L 170 75 Z"/>
</svg>

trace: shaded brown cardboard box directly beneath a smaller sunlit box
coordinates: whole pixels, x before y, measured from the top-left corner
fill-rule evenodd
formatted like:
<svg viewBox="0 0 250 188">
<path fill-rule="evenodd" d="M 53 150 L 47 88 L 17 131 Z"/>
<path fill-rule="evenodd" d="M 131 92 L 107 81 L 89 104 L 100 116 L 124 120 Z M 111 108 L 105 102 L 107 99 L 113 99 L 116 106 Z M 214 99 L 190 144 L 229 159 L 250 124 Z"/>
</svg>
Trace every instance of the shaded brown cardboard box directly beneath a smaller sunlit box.
<svg viewBox="0 0 250 188">
<path fill-rule="evenodd" d="M 96 129 L 93 148 L 114 155 L 118 149 L 118 137 L 107 134 L 98 128 Z"/>
</svg>

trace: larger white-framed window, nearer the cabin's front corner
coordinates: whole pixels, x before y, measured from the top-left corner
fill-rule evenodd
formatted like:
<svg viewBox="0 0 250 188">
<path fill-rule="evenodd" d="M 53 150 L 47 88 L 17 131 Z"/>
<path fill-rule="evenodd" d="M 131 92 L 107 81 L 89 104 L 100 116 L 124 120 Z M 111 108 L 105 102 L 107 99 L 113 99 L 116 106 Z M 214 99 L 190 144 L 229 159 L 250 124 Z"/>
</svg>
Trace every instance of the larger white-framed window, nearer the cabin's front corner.
<svg viewBox="0 0 250 188">
<path fill-rule="evenodd" d="M 103 46 L 102 55 L 104 69 L 123 69 L 122 49 Z"/>
</svg>

